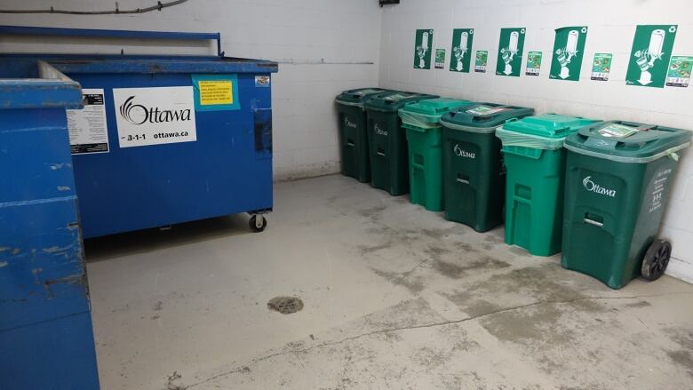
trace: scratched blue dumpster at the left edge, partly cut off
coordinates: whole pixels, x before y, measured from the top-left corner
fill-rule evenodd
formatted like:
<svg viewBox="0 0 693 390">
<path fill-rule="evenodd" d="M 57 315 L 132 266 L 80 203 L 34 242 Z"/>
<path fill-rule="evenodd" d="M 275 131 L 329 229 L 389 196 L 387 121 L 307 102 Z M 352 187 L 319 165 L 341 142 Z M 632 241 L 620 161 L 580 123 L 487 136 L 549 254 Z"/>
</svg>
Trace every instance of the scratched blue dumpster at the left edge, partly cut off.
<svg viewBox="0 0 693 390">
<path fill-rule="evenodd" d="M 0 73 L 0 388 L 98 389 L 66 117 L 82 95 L 31 70 Z"/>
</svg>

